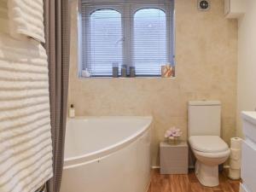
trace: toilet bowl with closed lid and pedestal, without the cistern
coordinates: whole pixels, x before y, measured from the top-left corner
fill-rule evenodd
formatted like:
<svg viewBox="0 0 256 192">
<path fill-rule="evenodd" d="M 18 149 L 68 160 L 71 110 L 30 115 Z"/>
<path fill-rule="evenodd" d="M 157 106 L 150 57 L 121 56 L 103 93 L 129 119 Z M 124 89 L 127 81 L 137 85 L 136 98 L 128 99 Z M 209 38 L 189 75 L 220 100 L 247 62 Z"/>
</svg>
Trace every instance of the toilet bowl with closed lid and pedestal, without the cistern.
<svg viewBox="0 0 256 192">
<path fill-rule="evenodd" d="M 218 136 L 191 136 L 189 145 L 195 154 L 195 175 L 207 187 L 218 185 L 218 165 L 229 158 L 230 148 Z"/>
</svg>

